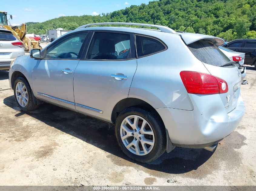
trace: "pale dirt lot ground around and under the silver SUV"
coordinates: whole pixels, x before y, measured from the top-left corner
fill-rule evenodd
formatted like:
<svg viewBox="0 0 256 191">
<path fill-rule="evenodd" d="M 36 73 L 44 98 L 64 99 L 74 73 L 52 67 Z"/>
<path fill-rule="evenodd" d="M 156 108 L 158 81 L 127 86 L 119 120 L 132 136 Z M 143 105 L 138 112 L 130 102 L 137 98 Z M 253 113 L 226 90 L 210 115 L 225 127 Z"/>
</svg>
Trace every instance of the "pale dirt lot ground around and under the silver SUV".
<svg viewBox="0 0 256 191">
<path fill-rule="evenodd" d="M 151 164 L 119 149 L 108 124 L 43 104 L 23 113 L 0 71 L 0 185 L 256 185 L 256 71 L 247 68 L 246 114 L 215 152 L 175 148 Z M 174 183 L 168 183 L 167 180 Z"/>
</svg>

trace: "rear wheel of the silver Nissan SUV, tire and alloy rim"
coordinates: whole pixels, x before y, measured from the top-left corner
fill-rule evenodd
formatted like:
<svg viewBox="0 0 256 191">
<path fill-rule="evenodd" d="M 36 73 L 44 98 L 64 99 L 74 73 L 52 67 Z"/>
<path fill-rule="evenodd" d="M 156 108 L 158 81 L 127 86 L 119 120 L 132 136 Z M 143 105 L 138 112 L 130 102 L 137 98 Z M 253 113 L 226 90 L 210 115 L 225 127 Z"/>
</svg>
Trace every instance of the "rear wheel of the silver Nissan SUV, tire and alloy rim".
<svg viewBox="0 0 256 191">
<path fill-rule="evenodd" d="M 121 150 L 135 161 L 154 161 L 166 150 L 165 126 L 153 111 L 125 109 L 116 120 L 115 134 Z"/>
</svg>

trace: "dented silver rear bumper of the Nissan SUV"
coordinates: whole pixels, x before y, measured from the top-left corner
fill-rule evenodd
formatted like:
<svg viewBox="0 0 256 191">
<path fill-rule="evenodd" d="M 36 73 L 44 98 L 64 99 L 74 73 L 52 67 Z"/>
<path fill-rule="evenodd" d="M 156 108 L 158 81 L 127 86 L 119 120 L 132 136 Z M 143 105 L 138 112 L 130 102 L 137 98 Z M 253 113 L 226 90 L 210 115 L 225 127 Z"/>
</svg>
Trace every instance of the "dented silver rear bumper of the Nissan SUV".
<svg viewBox="0 0 256 191">
<path fill-rule="evenodd" d="M 190 95 L 196 100 L 198 95 Z M 214 145 L 233 132 L 240 123 L 245 106 L 241 96 L 237 107 L 227 113 L 218 94 L 207 95 L 208 100 L 194 105 L 194 110 L 156 109 L 163 119 L 173 145 L 185 148 L 204 148 Z M 200 97 L 200 96 L 199 96 Z M 201 99 L 202 100 L 202 99 Z"/>
</svg>

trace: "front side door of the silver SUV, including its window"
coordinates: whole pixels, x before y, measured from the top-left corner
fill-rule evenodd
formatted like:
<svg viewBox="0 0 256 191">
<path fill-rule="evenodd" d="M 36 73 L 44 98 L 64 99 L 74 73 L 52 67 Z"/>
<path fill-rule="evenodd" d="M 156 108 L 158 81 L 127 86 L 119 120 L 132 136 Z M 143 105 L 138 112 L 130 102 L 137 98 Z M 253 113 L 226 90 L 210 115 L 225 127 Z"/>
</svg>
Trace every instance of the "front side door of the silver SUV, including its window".
<svg viewBox="0 0 256 191">
<path fill-rule="evenodd" d="M 33 91 L 40 100 L 75 110 L 74 71 L 86 35 L 87 32 L 66 35 L 42 51 L 43 59 L 37 60 L 32 71 Z"/>
</svg>

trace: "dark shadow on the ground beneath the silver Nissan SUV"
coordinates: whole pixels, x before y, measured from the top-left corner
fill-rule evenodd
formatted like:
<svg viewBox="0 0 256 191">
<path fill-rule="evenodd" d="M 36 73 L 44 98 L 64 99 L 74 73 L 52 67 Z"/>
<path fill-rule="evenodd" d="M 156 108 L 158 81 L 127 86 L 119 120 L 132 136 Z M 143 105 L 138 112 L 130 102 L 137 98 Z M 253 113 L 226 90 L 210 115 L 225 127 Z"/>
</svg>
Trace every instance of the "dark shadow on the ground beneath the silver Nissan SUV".
<svg viewBox="0 0 256 191">
<path fill-rule="evenodd" d="M 20 111 L 14 96 L 6 97 L 3 102 Z M 24 114 L 20 112 L 13 117 Z M 114 128 L 109 129 L 108 123 L 48 103 L 26 114 L 112 154 L 109 158 L 114 162 L 122 158 L 121 164 L 118 164 L 120 166 L 124 163 L 128 163 L 128 166 L 136 163 L 150 170 L 180 174 L 198 169 L 214 153 L 204 149 L 175 148 L 150 164 L 138 163 L 123 154 L 116 141 Z"/>
</svg>

